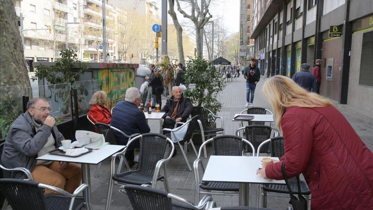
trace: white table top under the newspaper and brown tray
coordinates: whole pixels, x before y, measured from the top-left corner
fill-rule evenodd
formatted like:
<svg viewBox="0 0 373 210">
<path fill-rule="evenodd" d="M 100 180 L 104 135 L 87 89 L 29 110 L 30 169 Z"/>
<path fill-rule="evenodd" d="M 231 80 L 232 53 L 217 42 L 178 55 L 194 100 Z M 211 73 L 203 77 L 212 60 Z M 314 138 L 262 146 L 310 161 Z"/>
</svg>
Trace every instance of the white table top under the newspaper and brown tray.
<svg viewBox="0 0 373 210">
<path fill-rule="evenodd" d="M 123 149 L 124 147 L 125 146 L 122 145 L 106 145 L 101 149 L 93 150 L 92 152 L 88 152 L 87 154 L 81 155 L 79 157 L 64 157 L 60 155 L 46 154 L 36 159 L 70 163 L 98 164 L 106 158 L 112 156 L 119 150 Z"/>
</svg>

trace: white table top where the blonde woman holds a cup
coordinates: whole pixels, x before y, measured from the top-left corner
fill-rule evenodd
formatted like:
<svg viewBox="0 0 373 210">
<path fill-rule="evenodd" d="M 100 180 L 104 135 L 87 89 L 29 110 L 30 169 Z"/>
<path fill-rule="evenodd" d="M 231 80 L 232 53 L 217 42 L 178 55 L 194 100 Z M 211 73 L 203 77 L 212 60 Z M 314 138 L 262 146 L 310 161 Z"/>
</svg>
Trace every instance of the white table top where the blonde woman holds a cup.
<svg viewBox="0 0 373 210">
<path fill-rule="evenodd" d="M 203 181 L 285 184 L 285 180 L 263 179 L 256 175 L 264 157 L 211 155 Z M 278 160 L 278 158 L 271 157 Z"/>
</svg>

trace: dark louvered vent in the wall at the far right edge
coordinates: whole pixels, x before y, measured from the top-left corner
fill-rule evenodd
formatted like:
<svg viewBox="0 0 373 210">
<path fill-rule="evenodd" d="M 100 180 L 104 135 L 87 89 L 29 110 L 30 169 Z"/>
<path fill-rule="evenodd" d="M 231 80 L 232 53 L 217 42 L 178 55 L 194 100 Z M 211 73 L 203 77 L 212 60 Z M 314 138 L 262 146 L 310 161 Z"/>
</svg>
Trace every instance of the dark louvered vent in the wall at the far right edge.
<svg viewBox="0 0 373 210">
<path fill-rule="evenodd" d="M 373 31 L 363 34 L 363 43 L 361 47 L 360 57 L 360 74 L 359 85 L 367 85 L 373 87 Z"/>
</svg>

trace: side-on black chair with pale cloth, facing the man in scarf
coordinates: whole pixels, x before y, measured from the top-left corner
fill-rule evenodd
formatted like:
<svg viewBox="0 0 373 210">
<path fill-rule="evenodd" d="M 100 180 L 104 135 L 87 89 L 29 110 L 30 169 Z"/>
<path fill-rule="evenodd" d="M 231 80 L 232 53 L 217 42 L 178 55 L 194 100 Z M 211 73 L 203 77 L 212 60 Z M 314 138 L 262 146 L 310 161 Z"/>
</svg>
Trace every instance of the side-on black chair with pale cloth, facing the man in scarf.
<svg viewBox="0 0 373 210">
<path fill-rule="evenodd" d="M 192 117 L 190 120 L 186 121 L 185 123 L 176 123 L 175 124 L 175 128 L 174 129 L 162 129 L 162 132 L 163 131 L 169 131 L 171 132 L 171 135 L 173 135 L 173 137 L 175 138 L 175 141 L 174 143 L 177 143 L 181 149 L 181 153 L 183 154 L 184 156 L 184 159 L 185 159 L 185 162 L 186 164 L 188 165 L 188 168 L 189 168 L 189 171 L 192 171 L 192 168 L 188 162 L 188 158 L 186 157 L 186 146 L 190 143 L 192 145 L 192 148 L 195 152 L 195 155 L 198 155 L 197 154 L 197 150 L 195 149 L 195 146 L 194 146 L 194 143 L 192 141 L 192 138 L 193 138 L 193 133 L 194 133 L 194 130 L 197 126 L 197 123 L 198 123 L 198 115 Z M 181 124 L 180 127 L 176 127 L 178 124 Z M 182 137 L 182 138 L 178 138 L 178 136 L 176 135 L 176 133 L 183 129 L 185 126 L 188 126 L 188 128 L 186 129 L 186 132 L 185 132 L 185 135 Z M 182 144 L 184 144 L 184 146 L 182 146 Z"/>
</svg>

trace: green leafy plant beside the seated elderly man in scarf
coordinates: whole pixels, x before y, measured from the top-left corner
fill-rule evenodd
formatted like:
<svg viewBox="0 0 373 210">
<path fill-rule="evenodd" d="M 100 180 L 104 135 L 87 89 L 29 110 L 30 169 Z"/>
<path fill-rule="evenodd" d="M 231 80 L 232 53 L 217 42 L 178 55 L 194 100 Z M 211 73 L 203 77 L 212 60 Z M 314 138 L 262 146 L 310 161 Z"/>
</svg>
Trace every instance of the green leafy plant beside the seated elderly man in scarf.
<svg viewBox="0 0 373 210">
<path fill-rule="evenodd" d="M 186 61 L 188 73 L 184 76 L 185 85 L 195 84 L 195 87 L 187 89 L 184 95 L 190 98 L 194 105 L 203 106 L 217 114 L 222 108 L 222 103 L 217 100 L 217 96 L 226 86 L 224 78 L 209 61 L 199 57 L 188 56 L 188 58 L 189 60 Z M 213 118 L 210 114 L 206 114 L 211 125 Z"/>
</svg>

